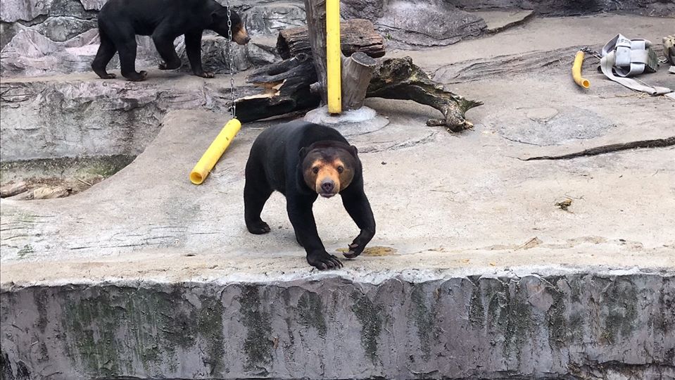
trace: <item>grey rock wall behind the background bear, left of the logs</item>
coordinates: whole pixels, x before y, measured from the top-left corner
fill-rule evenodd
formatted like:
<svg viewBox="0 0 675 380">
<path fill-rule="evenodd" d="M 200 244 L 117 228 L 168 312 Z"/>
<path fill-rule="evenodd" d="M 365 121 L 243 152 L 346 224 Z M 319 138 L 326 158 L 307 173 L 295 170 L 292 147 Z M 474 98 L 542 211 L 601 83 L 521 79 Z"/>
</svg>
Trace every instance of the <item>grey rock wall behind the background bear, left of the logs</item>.
<svg viewBox="0 0 675 380">
<path fill-rule="evenodd" d="M 91 71 L 99 48 L 96 13 L 105 0 L 7 0 L 1 1 L 0 72 L 3 77 L 42 76 Z M 291 0 L 274 4 L 236 4 L 236 11 L 250 25 L 251 35 L 276 35 L 288 25 L 302 25 L 302 1 Z M 203 42 L 205 67 L 215 72 L 229 71 L 224 58 L 226 40 L 214 33 Z M 156 66 L 160 57 L 150 37 L 137 37 L 139 44 L 137 66 Z M 184 58 L 182 39 L 176 40 L 178 52 Z M 263 65 L 279 60 L 274 41 L 253 39 L 247 46 L 234 45 L 236 70 L 251 65 Z M 109 68 L 119 67 L 115 56 Z"/>
</svg>

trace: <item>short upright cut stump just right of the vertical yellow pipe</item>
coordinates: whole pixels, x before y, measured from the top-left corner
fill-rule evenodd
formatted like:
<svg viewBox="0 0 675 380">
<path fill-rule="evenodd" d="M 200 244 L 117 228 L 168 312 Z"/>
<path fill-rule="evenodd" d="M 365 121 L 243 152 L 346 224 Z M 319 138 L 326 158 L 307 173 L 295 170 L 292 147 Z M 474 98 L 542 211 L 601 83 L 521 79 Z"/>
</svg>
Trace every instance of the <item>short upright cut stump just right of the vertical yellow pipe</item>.
<svg viewBox="0 0 675 380">
<path fill-rule="evenodd" d="M 342 109 L 358 110 L 363 106 L 377 61 L 360 51 L 342 57 Z"/>
</svg>

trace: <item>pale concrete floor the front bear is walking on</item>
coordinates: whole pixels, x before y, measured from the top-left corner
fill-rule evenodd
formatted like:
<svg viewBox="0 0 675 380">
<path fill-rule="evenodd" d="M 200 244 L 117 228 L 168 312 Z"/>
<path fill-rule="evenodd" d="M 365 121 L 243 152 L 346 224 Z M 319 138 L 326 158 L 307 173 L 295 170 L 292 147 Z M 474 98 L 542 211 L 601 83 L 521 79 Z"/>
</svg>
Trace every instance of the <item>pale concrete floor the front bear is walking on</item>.
<svg viewBox="0 0 675 380">
<path fill-rule="evenodd" d="M 435 112 L 425 106 L 369 99 L 391 123 L 348 139 L 360 149 L 378 224 L 370 246 L 394 253 L 363 255 L 338 272 L 675 267 L 672 148 L 518 159 L 673 134 L 675 102 L 633 94 L 585 70 L 588 91 L 572 83 L 564 64 L 450 85 L 485 102 L 469 111 L 476 127 L 463 134 L 425 126 Z M 660 70 L 648 78 L 675 83 L 671 77 Z M 252 236 L 244 227 L 244 165 L 266 123 L 246 125 L 206 183 L 189 183 L 191 166 L 226 118 L 171 112 L 134 163 L 89 191 L 51 201 L 3 200 L 2 281 L 309 272 L 282 196 L 272 196 L 263 211 L 275 227 L 271 234 Z M 555 206 L 567 197 L 569 211 Z M 345 248 L 357 233 L 335 199 L 318 201 L 315 214 L 331 250 Z M 535 237 L 541 243 L 524 246 Z"/>
</svg>

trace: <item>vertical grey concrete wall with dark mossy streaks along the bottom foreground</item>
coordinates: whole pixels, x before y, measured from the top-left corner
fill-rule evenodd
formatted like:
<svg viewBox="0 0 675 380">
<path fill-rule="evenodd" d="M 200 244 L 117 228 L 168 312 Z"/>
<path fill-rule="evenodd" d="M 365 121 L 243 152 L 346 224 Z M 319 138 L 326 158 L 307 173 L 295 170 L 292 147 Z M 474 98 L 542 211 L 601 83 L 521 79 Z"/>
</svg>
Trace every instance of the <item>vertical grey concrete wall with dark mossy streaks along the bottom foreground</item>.
<svg viewBox="0 0 675 380">
<path fill-rule="evenodd" d="M 366 278 L 6 285 L 2 372 L 5 379 L 675 376 L 674 272 Z"/>
</svg>

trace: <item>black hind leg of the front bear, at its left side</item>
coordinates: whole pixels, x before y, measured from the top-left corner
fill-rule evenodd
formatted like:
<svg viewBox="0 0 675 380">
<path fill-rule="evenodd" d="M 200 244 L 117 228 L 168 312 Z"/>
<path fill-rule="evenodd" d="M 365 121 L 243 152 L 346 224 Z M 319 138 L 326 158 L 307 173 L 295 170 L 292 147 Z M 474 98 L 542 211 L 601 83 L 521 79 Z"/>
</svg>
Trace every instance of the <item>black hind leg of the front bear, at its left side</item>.
<svg viewBox="0 0 675 380">
<path fill-rule="evenodd" d="M 257 172 L 256 172 L 257 171 Z M 265 202 L 272 195 L 272 186 L 267 183 L 262 170 L 253 170 L 251 164 L 246 165 L 246 183 L 244 184 L 244 220 L 251 234 L 267 234 L 270 226 L 260 219 Z"/>
</svg>

